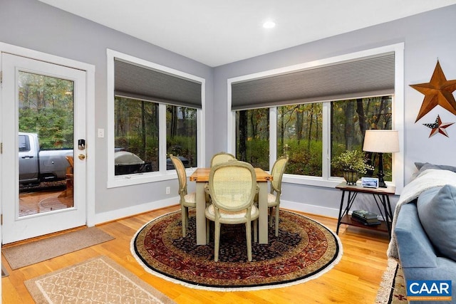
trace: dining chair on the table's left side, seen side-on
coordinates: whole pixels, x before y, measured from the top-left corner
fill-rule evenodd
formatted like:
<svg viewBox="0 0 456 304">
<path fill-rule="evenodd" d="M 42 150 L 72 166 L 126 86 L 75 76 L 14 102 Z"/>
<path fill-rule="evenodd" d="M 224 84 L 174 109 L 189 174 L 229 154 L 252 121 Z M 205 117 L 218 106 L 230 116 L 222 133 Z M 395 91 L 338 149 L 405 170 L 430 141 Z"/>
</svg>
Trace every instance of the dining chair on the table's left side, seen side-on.
<svg viewBox="0 0 456 304">
<path fill-rule="evenodd" d="M 182 210 L 182 237 L 187 235 L 188 229 L 188 209 L 196 208 L 197 195 L 196 192 L 187 193 L 187 173 L 185 172 L 184 164 L 179 159 L 170 154 L 170 159 L 177 172 L 177 179 L 179 179 L 179 195 L 180 195 L 180 209 Z"/>
</svg>

